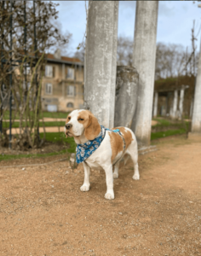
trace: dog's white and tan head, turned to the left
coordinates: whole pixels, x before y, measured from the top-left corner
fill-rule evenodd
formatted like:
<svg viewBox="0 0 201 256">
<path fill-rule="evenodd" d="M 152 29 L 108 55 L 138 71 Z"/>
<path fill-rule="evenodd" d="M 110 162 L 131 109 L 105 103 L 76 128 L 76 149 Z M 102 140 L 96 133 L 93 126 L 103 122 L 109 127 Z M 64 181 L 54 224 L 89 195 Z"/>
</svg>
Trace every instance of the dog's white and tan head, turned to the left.
<svg viewBox="0 0 201 256">
<path fill-rule="evenodd" d="M 100 125 L 89 110 L 73 110 L 67 116 L 65 133 L 66 137 L 78 138 L 84 134 L 88 140 L 94 140 L 100 133 Z"/>
</svg>

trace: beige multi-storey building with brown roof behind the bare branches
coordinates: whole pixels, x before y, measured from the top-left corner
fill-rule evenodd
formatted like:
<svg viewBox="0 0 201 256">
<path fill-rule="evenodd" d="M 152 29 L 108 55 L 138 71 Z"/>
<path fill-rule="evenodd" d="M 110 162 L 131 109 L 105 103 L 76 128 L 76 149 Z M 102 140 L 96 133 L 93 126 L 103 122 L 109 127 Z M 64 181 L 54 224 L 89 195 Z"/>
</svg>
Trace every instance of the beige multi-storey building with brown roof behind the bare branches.
<svg viewBox="0 0 201 256">
<path fill-rule="evenodd" d="M 42 109 L 72 111 L 83 108 L 83 63 L 77 58 L 48 54 L 42 82 Z"/>
</svg>

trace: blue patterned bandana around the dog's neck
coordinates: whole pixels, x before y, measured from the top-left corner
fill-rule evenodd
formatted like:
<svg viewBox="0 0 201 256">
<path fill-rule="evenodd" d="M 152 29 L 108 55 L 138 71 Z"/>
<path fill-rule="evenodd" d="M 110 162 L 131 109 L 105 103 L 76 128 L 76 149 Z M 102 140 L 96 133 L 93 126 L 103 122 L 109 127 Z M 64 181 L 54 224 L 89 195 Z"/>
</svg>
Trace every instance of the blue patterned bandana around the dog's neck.
<svg viewBox="0 0 201 256">
<path fill-rule="evenodd" d="M 103 141 L 106 131 L 120 132 L 117 130 L 110 130 L 105 128 L 103 125 L 100 125 L 101 131 L 98 137 L 95 137 L 94 140 L 88 141 L 83 144 L 78 144 L 76 148 L 76 161 L 77 163 L 82 163 L 86 160 L 91 154 L 95 152 L 97 148 L 99 148 L 100 143 Z"/>
</svg>

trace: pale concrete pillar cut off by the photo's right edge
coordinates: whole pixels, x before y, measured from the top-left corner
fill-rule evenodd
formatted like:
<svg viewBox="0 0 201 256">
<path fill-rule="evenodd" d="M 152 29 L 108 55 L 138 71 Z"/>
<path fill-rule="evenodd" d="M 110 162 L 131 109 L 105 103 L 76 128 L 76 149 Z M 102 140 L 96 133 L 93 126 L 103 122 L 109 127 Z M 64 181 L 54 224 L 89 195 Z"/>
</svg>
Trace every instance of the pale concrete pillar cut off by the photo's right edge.
<svg viewBox="0 0 201 256">
<path fill-rule="evenodd" d="M 199 49 L 198 74 L 192 108 L 192 132 L 201 133 L 201 47 Z"/>
</svg>

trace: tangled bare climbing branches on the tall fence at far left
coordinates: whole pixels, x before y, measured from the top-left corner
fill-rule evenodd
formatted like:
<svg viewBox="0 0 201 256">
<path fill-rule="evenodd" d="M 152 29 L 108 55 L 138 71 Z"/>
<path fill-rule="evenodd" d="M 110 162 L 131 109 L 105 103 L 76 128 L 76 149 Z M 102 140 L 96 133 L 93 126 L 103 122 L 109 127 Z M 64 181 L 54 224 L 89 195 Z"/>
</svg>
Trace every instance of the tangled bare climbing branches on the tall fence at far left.
<svg viewBox="0 0 201 256">
<path fill-rule="evenodd" d="M 20 133 L 15 141 L 21 149 L 41 144 L 37 128 L 46 53 L 49 49 L 68 44 L 71 38 L 70 34 L 62 35 L 55 26 L 54 20 L 58 17 L 56 6 L 51 1 L 0 3 L 0 120 L 7 118 L 9 99 L 12 99 L 12 124 L 16 117 L 20 124 Z M 9 140 L 7 129 L 1 135 L 3 145 Z"/>
</svg>

